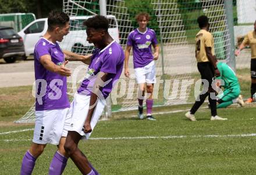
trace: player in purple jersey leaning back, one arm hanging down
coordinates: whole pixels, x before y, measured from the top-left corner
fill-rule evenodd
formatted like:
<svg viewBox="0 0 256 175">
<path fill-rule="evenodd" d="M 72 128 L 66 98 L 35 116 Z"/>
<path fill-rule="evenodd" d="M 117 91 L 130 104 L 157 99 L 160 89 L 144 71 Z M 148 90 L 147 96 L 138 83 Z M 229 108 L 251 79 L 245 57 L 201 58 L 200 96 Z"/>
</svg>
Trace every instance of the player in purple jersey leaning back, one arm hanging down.
<svg viewBox="0 0 256 175">
<path fill-rule="evenodd" d="M 70 123 L 64 148 L 82 174 L 98 174 L 77 146 L 81 139 L 90 137 L 104 109 L 105 98 L 122 73 L 125 59 L 122 47 L 109 35 L 108 25 L 104 16 L 94 16 L 84 22 L 87 41 L 96 49 L 87 61 L 86 78 L 74 95 L 67 115 Z"/>
</svg>

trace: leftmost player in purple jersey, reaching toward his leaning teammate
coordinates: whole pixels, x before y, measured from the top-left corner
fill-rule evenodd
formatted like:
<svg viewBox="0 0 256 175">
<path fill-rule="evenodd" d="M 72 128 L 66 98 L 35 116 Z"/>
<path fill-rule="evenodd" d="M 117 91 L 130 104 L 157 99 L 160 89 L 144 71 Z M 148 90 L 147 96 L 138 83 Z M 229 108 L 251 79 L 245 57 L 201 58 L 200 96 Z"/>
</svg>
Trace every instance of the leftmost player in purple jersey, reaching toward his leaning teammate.
<svg viewBox="0 0 256 175">
<path fill-rule="evenodd" d="M 62 137 L 65 119 L 70 104 L 67 98 L 66 77 L 71 72 L 65 67 L 65 54 L 58 42 L 69 33 L 69 16 L 63 12 L 51 12 L 48 16 L 48 30 L 35 45 L 35 129 L 33 143 L 22 160 L 20 174 L 31 174 L 35 160 L 49 144 L 58 145 L 49 167 L 49 174 L 62 174 L 67 156 L 64 149 L 65 137 Z M 83 56 L 67 52 L 84 60 Z"/>
</svg>

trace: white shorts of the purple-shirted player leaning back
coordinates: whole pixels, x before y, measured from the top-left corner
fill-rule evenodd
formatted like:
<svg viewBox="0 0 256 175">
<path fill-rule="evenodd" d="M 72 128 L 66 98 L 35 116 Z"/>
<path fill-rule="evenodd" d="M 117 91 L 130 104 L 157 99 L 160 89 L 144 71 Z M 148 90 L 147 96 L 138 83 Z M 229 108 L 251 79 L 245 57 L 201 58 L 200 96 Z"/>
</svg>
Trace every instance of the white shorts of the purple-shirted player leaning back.
<svg viewBox="0 0 256 175">
<path fill-rule="evenodd" d="M 67 114 L 67 120 L 65 122 L 64 131 L 76 131 L 82 135 L 81 139 L 88 139 L 91 133 L 84 133 L 83 127 L 86 121 L 87 113 L 90 106 L 90 96 L 74 94 L 74 99 L 70 104 L 70 110 Z M 93 117 L 91 118 L 91 128 L 94 129 L 99 117 L 102 115 L 105 99 L 99 99 L 97 106 L 94 110 Z M 63 132 L 63 136 L 66 137 L 67 133 Z"/>
</svg>

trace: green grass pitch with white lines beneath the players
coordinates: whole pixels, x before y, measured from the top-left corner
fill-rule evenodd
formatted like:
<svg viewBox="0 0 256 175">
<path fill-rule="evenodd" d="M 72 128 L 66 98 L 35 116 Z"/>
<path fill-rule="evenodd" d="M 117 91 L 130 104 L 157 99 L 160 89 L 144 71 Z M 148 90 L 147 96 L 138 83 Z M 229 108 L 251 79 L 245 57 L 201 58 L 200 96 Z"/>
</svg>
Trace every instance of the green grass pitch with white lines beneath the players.
<svg viewBox="0 0 256 175">
<path fill-rule="evenodd" d="M 242 94 L 248 97 L 248 72 L 237 71 Z M 24 153 L 33 138 L 33 124 L 13 124 L 33 104 L 31 87 L 0 88 L 0 174 L 19 174 Z M 205 106 L 205 105 L 204 105 Z M 219 109 L 226 121 L 210 121 L 209 109 L 190 122 L 191 105 L 154 109 L 157 121 L 138 120 L 135 111 L 113 113 L 100 121 L 91 140 L 80 149 L 101 174 L 256 174 L 255 104 Z M 175 110 L 183 112 L 170 113 Z M 56 146 L 48 145 L 33 174 L 48 174 Z M 63 174 L 80 174 L 69 160 Z"/>
</svg>

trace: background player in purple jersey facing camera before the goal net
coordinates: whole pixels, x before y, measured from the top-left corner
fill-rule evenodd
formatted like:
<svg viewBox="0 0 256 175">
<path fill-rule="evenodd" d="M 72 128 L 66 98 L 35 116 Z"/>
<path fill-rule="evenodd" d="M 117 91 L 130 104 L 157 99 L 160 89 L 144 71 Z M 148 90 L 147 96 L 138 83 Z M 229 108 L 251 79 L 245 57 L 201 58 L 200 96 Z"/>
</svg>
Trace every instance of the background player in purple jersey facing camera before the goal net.
<svg viewBox="0 0 256 175">
<path fill-rule="evenodd" d="M 146 99 L 147 119 L 155 120 L 152 116 L 152 94 L 154 83 L 156 83 L 154 60 L 158 59 L 159 54 L 157 36 L 155 35 L 154 30 L 147 28 L 147 24 L 150 20 L 150 15 L 148 15 L 148 13 L 138 14 L 136 20 L 138 22 L 138 28 L 131 31 L 129 34 L 125 50 L 125 76 L 130 77 L 128 61 L 132 47 L 133 66 L 138 84 L 138 117 L 139 119 L 144 119 L 143 99 L 145 96 L 145 89 L 147 89 L 147 93 L 149 93 L 149 97 Z M 152 54 L 151 45 L 154 47 L 154 55 Z"/>
</svg>

